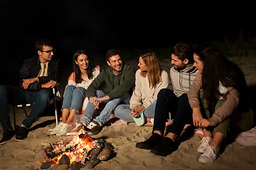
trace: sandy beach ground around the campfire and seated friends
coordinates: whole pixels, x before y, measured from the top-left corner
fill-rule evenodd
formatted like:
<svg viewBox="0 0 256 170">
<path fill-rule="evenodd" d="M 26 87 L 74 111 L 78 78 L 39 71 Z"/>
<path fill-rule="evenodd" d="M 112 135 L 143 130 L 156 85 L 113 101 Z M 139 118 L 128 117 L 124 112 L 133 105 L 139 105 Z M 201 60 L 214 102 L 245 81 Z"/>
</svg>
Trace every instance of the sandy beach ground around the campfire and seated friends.
<svg viewBox="0 0 256 170">
<path fill-rule="evenodd" d="M 241 65 L 245 73 L 245 79 L 250 87 L 256 85 L 255 57 L 246 60 L 233 58 Z M 170 69 L 170 60 L 161 62 L 167 72 Z M 134 67 L 137 61 L 130 62 Z M 137 67 L 136 67 L 137 68 Z M 67 79 L 68 77 L 66 77 Z M 65 80 L 63 80 L 65 84 Z M 65 86 L 61 86 L 61 94 Z M 10 109 L 11 122 L 12 109 Z M 27 108 L 30 111 L 30 108 Z M 25 118 L 22 110 L 17 109 L 16 123 L 21 124 Z M 32 131 L 21 142 L 16 142 L 14 137 L 4 145 L 0 145 L 0 169 L 40 169 L 40 164 L 34 162 L 33 156 L 41 149 L 65 139 L 65 136 L 49 135 L 49 129 L 55 127 L 53 109 L 48 109 L 48 114 L 38 118 L 33 123 Z M 97 164 L 94 169 L 256 169 L 256 147 L 245 147 L 237 141 L 230 142 L 220 157 L 211 164 L 198 163 L 201 154 L 196 152 L 200 145 L 200 135 L 193 135 L 188 140 L 181 142 L 178 149 L 167 157 L 159 157 L 151 154 L 150 150 L 136 148 L 136 142 L 142 142 L 151 135 L 151 126 L 138 127 L 134 123 L 119 126 L 105 126 L 95 139 L 104 139 L 114 146 L 116 156 L 107 162 Z M 0 128 L 0 137 L 2 137 Z M 85 168 L 83 168 L 85 169 Z"/>
</svg>

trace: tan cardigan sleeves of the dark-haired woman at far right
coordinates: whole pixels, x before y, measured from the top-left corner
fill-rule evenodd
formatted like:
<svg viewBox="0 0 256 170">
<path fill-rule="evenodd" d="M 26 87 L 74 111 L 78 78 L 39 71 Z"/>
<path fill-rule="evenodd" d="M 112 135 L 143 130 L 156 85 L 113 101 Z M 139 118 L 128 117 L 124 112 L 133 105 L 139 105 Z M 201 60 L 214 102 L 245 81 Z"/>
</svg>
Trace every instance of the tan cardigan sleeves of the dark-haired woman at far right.
<svg viewBox="0 0 256 170">
<path fill-rule="evenodd" d="M 198 73 L 196 75 L 195 80 L 191 86 L 191 89 L 188 91 L 188 101 L 191 105 L 191 108 L 200 107 L 199 102 L 199 92 L 202 88 L 202 74 Z M 228 87 L 227 92 L 223 98 L 225 102 L 220 108 L 218 108 L 213 116 L 210 118 L 210 121 L 213 121 L 215 125 L 221 123 L 225 118 L 228 118 L 236 108 L 238 108 L 239 104 L 239 93 L 233 87 Z"/>
</svg>

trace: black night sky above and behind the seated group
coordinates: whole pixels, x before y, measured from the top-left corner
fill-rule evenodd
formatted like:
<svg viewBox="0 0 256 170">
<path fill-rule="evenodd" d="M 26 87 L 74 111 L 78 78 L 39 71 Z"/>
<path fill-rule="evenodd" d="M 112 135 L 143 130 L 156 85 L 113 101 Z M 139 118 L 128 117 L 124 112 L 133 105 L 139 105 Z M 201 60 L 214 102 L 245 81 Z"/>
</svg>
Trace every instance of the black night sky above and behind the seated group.
<svg viewBox="0 0 256 170">
<path fill-rule="evenodd" d="M 255 37 L 253 1 L 0 1 L 1 83 L 16 85 L 38 38 L 50 38 L 63 68 L 84 48 L 104 61 L 111 48 L 169 47 Z M 97 58 L 96 58 L 97 57 Z M 168 57 L 168 56 L 166 56 Z M 71 71 L 70 71 L 71 72 Z M 66 77 L 68 78 L 68 77 Z"/>
</svg>

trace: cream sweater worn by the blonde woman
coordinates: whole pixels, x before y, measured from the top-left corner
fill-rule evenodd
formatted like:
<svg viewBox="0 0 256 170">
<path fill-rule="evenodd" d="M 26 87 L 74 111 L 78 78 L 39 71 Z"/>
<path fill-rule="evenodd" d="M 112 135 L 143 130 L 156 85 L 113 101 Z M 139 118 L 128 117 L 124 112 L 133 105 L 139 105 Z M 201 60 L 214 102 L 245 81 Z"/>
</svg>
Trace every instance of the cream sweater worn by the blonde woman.
<svg viewBox="0 0 256 170">
<path fill-rule="evenodd" d="M 159 91 L 166 89 L 169 85 L 169 77 L 164 70 L 161 72 L 161 82 L 156 85 L 156 88 L 149 88 L 148 77 L 142 77 L 140 72 L 140 69 L 138 69 L 135 74 L 135 89 L 130 100 L 131 108 L 142 105 L 147 108 L 156 100 Z"/>
</svg>

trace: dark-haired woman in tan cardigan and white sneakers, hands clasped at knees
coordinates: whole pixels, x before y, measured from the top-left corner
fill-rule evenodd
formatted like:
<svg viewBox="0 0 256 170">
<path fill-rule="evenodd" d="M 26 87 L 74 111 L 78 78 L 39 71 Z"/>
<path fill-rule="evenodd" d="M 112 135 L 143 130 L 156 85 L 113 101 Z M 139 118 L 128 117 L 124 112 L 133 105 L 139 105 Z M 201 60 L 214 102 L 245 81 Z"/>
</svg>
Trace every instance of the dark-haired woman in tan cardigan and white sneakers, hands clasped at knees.
<svg viewBox="0 0 256 170">
<path fill-rule="evenodd" d="M 247 85 L 240 68 L 228 61 L 213 45 L 201 45 L 194 53 L 198 74 L 188 91 L 193 125 L 202 128 L 198 162 L 218 159 L 228 129 L 249 130 L 253 111 L 246 103 Z"/>
</svg>

